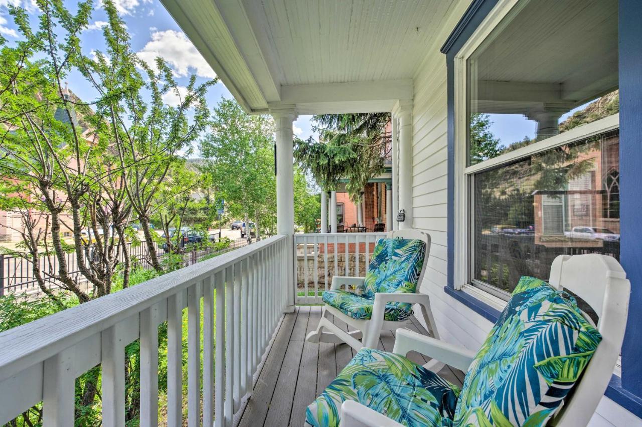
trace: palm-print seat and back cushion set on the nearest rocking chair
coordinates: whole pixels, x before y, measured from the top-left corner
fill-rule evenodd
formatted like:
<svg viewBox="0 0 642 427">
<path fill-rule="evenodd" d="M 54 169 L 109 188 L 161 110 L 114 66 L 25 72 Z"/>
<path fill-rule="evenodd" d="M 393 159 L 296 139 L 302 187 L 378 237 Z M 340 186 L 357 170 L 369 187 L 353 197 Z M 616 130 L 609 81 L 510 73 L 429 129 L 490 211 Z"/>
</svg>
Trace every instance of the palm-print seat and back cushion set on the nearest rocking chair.
<svg viewBox="0 0 642 427">
<path fill-rule="evenodd" d="M 544 426 L 600 340 L 572 296 L 523 277 L 461 392 L 403 356 L 361 349 L 308 406 L 306 422 L 338 425 L 341 404 L 351 399 L 406 426 Z"/>
</svg>

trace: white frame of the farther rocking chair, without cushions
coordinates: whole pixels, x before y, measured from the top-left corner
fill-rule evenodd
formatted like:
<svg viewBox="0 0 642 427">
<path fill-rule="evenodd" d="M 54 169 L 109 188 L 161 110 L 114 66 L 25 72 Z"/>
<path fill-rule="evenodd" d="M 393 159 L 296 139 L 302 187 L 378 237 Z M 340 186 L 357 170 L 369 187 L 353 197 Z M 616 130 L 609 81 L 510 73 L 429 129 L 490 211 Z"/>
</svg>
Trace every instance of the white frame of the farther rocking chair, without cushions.
<svg viewBox="0 0 642 427">
<path fill-rule="evenodd" d="M 376 348 L 381 330 L 402 328 L 410 321 L 410 317 L 400 321 L 384 320 L 386 304 L 392 302 L 418 304 L 421 307 L 422 317 L 426 325 L 428 325 L 428 332 L 435 339 L 439 339 L 435 319 L 430 309 L 430 299 L 428 295 L 419 292 L 421 281 L 427 269 L 428 255 L 430 253 L 430 235 L 423 231 L 413 229 L 394 230 L 386 235 L 388 239 L 397 237 L 401 239 L 419 239 L 426 245 L 424 262 L 419 278 L 417 279 L 415 293 L 377 292 L 374 297 L 374 305 L 372 306 L 370 319 L 354 319 L 344 314 L 341 310 L 338 310 L 338 308 L 326 304 L 322 310 L 321 320 L 319 321 L 317 330 L 311 331 L 306 337 L 306 340 L 309 342 L 331 342 L 335 344 L 345 342 L 357 351 L 360 350 L 361 347 Z M 359 290 L 363 289 L 364 282 L 365 278 L 363 277 L 334 276 L 332 278 L 331 290 L 342 288 L 345 288 L 345 290 L 349 290 L 350 288 Z M 346 322 L 348 327 L 353 330 L 349 332 L 342 330 L 342 328 L 329 319 L 329 315 L 333 315 L 341 321 Z M 324 330 L 327 330 L 327 332 Z"/>
</svg>

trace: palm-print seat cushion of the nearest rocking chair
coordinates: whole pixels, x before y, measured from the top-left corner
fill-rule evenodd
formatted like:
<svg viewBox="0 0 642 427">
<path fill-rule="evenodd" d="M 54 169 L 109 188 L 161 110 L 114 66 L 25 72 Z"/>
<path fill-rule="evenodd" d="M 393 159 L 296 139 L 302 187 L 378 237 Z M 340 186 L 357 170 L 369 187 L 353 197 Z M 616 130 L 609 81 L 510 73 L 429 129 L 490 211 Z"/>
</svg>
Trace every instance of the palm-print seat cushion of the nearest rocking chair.
<svg viewBox="0 0 642 427">
<path fill-rule="evenodd" d="M 459 389 L 407 358 L 361 349 L 306 411 L 306 425 L 339 425 L 354 400 L 405 426 L 451 426 Z"/>
</svg>

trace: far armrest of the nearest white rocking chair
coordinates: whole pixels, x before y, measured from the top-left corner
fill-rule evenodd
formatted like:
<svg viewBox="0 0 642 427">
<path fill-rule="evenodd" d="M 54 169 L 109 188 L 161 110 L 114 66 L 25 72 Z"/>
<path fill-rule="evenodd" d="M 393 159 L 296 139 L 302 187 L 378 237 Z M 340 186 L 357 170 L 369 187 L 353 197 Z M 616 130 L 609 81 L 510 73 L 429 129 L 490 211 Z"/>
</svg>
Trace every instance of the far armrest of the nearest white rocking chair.
<svg viewBox="0 0 642 427">
<path fill-rule="evenodd" d="M 417 351 L 464 372 L 468 370 L 475 357 L 474 351 L 466 347 L 455 346 L 407 329 L 397 329 L 395 336 L 392 352 L 397 355 L 406 356 L 410 351 Z"/>
</svg>

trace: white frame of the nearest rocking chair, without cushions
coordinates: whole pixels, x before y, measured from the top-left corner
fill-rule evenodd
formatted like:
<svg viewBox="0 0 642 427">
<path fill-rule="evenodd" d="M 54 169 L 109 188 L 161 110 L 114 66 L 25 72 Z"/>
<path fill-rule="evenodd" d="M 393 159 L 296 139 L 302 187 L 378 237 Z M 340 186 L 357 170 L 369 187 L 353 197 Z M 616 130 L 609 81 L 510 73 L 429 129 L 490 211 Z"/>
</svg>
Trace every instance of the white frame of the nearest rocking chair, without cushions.
<svg viewBox="0 0 642 427">
<path fill-rule="evenodd" d="M 557 256 L 551 266 L 549 283 L 584 299 L 599 317 L 596 327 L 602 341 L 573 392 L 548 423 L 562 427 L 586 426 L 602 399 L 620 355 L 629 312 L 630 283 L 615 258 L 598 254 Z M 584 317 L 593 324 L 586 314 Z M 410 351 L 441 360 L 464 372 L 475 356 L 474 351 L 465 347 L 413 331 L 397 330 L 393 352 L 406 356 Z M 341 406 L 342 427 L 401 425 L 356 401 L 345 401 Z"/>
</svg>

